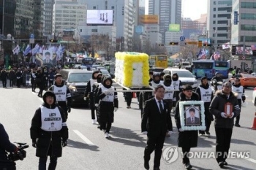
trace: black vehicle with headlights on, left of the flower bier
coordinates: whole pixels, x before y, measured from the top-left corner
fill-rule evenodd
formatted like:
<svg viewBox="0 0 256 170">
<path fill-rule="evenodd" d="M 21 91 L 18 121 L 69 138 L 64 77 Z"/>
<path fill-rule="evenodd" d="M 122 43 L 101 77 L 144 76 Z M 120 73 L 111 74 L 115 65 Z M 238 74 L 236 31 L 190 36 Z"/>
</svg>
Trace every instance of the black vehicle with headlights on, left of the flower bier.
<svg viewBox="0 0 256 170">
<path fill-rule="evenodd" d="M 88 103 L 84 101 L 83 97 L 87 82 L 91 79 L 92 71 L 86 69 L 61 69 L 59 73 L 70 90 L 72 106 L 78 104 L 88 106 Z"/>
</svg>

